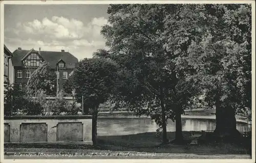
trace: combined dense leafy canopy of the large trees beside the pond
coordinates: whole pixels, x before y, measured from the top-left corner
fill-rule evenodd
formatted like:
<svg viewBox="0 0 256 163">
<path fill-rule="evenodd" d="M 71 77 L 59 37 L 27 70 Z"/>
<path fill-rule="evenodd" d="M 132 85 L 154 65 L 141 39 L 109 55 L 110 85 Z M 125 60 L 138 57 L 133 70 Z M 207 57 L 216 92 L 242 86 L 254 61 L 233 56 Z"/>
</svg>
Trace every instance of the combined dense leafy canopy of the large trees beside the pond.
<svg viewBox="0 0 256 163">
<path fill-rule="evenodd" d="M 217 126 L 235 129 L 234 113 L 251 109 L 250 5 L 125 4 L 110 5 L 108 14 L 101 34 L 110 50 L 95 56 L 120 66 L 117 106 L 150 115 L 163 135 L 166 120 L 181 124 L 203 92 L 218 108 Z"/>
</svg>

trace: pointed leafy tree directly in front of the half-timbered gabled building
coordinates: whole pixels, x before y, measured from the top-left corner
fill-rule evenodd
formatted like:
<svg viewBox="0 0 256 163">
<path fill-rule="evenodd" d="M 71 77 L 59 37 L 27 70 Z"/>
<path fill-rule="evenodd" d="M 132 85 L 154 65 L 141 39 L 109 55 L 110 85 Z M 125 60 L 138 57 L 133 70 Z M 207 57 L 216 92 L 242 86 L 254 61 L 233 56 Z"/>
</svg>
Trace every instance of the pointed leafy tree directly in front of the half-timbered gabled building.
<svg viewBox="0 0 256 163">
<path fill-rule="evenodd" d="M 49 63 L 44 61 L 29 78 L 26 90 L 29 96 L 36 96 L 38 90 L 43 90 L 47 95 L 56 94 L 56 73 L 51 69 Z"/>
</svg>

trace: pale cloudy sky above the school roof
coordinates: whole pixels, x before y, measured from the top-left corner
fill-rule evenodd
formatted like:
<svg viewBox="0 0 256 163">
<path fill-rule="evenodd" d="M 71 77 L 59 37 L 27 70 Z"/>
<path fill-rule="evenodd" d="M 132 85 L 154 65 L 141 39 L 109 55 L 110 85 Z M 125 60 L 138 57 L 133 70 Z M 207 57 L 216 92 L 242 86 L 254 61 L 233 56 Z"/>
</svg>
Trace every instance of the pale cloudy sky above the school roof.
<svg viewBox="0 0 256 163">
<path fill-rule="evenodd" d="M 18 47 L 69 51 L 78 60 L 105 47 L 101 26 L 109 5 L 5 5 L 4 42 Z"/>
</svg>

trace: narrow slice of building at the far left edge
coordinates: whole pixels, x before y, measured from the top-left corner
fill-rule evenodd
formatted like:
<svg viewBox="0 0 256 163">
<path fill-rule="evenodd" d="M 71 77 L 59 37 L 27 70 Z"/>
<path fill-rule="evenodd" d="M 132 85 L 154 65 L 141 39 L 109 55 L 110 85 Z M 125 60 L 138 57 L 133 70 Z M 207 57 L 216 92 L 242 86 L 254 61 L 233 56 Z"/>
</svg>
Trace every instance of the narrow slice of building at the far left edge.
<svg viewBox="0 0 256 163">
<path fill-rule="evenodd" d="M 11 66 L 11 61 L 10 58 L 12 58 L 12 52 L 4 45 L 4 53 L 5 53 L 5 58 L 4 58 L 4 86 L 5 88 L 7 87 L 8 80 L 10 83 L 13 82 L 13 77 L 12 73 L 9 71 L 9 67 Z"/>
</svg>

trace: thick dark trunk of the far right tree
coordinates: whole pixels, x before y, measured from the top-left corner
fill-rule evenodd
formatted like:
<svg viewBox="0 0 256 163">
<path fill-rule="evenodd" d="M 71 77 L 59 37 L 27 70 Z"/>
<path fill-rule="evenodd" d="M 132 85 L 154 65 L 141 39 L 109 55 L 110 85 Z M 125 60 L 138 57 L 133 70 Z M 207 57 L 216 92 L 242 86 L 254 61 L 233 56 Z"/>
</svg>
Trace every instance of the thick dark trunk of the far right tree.
<svg viewBox="0 0 256 163">
<path fill-rule="evenodd" d="M 240 132 L 237 130 L 237 121 L 234 108 L 231 106 L 221 106 L 217 101 L 216 104 L 216 128 L 214 135 L 217 139 L 227 141 L 237 141 L 240 138 Z"/>
</svg>

